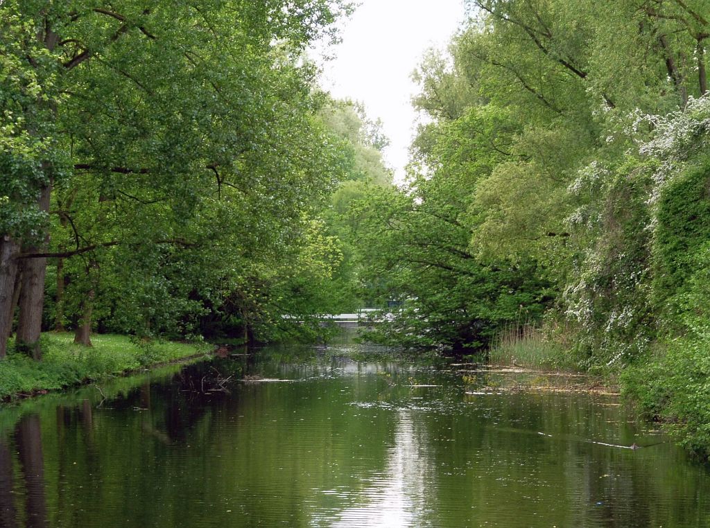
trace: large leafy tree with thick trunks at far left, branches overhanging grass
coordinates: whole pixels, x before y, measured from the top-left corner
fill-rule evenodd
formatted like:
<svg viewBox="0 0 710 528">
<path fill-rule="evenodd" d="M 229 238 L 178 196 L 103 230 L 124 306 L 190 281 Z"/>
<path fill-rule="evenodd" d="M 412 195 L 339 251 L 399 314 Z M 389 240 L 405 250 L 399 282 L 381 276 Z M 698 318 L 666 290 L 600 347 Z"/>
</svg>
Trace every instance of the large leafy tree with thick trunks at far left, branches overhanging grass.
<svg viewBox="0 0 710 528">
<path fill-rule="evenodd" d="M 322 0 L 0 6 L 1 110 L 11 123 L 2 141 L 13 143 L 16 167 L 3 197 L 2 353 L 17 273 L 10 260 L 20 259 L 17 339 L 39 357 L 46 218 L 63 177 L 89 171 L 101 182 L 100 197 L 162 202 L 178 221 L 196 210 L 208 182 L 218 194 L 230 186 L 260 197 L 277 189 L 282 206 L 318 187 L 294 185 L 302 175 L 289 172 L 293 155 L 247 171 L 261 167 L 262 153 L 278 155 L 286 131 L 271 133 L 271 125 L 310 90 L 312 72 L 296 67 L 295 57 L 346 7 Z M 35 236 L 23 238 L 21 226 Z M 164 238 L 152 234 L 143 243 Z"/>
</svg>

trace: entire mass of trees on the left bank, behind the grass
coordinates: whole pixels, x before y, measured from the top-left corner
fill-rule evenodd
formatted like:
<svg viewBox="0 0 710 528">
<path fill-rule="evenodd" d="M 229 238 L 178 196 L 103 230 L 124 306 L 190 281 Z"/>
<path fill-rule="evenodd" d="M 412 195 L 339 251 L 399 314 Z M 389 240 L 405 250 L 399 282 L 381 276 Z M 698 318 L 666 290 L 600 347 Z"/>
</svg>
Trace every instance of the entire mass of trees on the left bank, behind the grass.
<svg viewBox="0 0 710 528">
<path fill-rule="evenodd" d="M 355 302 L 332 199 L 388 182 L 383 143 L 303 55 L 349 9 L 2 2 L 0 358 L 49 329 L 308 335 L 283 314 Z"/>
</svg>

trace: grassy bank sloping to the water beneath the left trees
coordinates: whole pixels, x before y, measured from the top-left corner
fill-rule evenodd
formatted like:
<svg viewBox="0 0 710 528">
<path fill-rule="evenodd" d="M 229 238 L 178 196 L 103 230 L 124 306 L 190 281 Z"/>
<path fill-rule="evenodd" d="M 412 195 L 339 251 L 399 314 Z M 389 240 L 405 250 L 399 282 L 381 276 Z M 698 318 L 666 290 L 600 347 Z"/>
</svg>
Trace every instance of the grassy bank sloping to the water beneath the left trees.
<svg viewBox="0 0 710 528">
<path fill-rule="evenodd" d="M 128 336 L 94 335 L 94 346 L 75 345 L 72 334 L 42 336 L 43 361 L 9 353 L 0 361 L 0 400 L 79 385 L 108 375 L 208 353 L 206 343 L 135 343 Z M 9 348 L 12 347 L 10 343 Z"/>
</svg>

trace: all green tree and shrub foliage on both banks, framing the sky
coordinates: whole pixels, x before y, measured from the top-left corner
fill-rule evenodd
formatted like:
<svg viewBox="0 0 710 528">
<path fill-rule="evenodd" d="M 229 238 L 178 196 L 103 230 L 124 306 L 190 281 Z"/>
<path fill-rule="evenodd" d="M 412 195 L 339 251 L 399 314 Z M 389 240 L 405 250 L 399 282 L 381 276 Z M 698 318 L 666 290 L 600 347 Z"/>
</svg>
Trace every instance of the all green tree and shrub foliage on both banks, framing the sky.
<svg viewBox="0 0 710 528">
<path fill-rule="evenodd" d="M 344 1 L 0 3 L 0 236 L 53 259 L 45 326 L 318 339 L 373 304 L 371 339 L 458 351 L 557 326 L 557 364 L 630 368 L 706 445 L 706 1 L 466 5 L 396 188 L 380 123 L 302 58 Z"/>
</svg>

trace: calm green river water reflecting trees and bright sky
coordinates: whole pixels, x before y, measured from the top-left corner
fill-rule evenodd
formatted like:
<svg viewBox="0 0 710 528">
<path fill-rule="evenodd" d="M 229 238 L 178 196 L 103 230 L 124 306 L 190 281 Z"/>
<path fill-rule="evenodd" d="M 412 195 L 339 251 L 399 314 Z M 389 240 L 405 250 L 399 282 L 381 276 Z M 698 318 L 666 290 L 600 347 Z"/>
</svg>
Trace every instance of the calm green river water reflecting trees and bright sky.
<svg viewBox="0 0 710 528">
<path fill-rule="evenodd" d="M 616 397 L 344 356 L 274 349 L 5 409 L 0 528 L 709 525 L 707 469 Z"/>
</svg>

